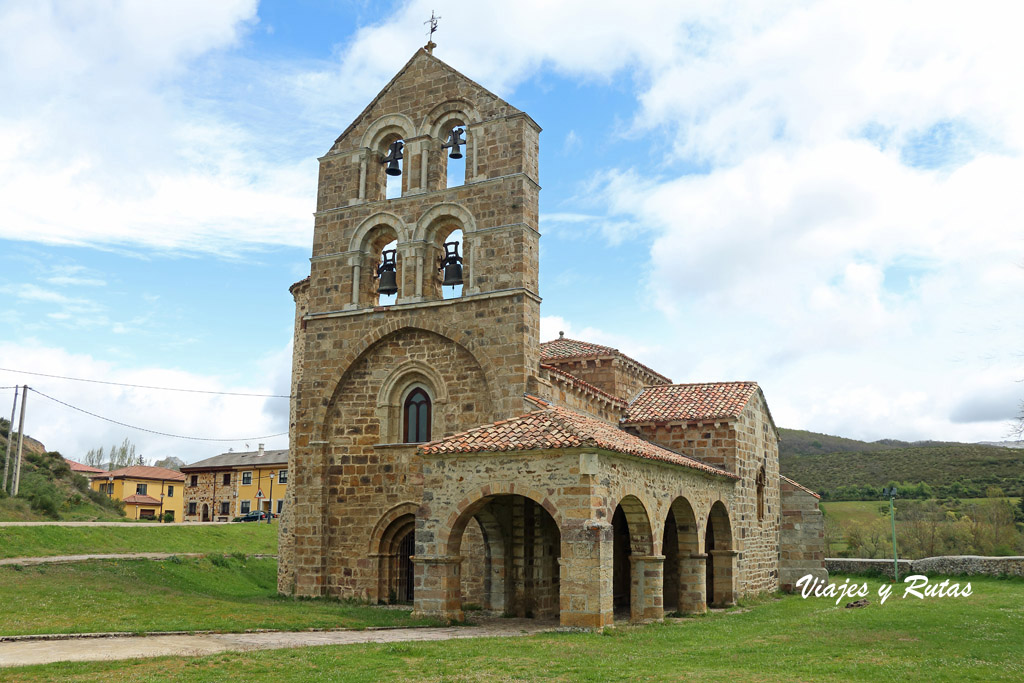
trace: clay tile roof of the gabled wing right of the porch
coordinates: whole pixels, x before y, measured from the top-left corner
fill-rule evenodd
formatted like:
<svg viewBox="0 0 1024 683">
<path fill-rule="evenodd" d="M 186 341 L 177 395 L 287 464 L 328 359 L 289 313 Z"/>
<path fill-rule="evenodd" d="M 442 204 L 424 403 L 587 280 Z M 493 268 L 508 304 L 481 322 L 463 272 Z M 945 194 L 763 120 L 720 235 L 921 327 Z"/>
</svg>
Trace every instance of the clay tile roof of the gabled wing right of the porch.
<svg viewBox="0 0 1024 683">
<path fill-rule="evenodd" d="M 623 424 L 734 420 L 757 390 L 757 382 L 644 387 L 630 403 Z"/>
</svg>

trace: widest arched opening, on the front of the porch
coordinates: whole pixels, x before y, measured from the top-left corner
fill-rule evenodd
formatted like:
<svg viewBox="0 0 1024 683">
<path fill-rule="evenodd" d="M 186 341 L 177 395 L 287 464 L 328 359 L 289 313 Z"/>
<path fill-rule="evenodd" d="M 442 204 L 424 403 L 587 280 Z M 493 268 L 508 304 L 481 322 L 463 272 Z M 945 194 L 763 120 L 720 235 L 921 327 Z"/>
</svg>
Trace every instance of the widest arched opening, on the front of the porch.
<svg viewBox="0 0 1024 683">
<path fill-rule="evenodd" d="M 460 603 L 509 616 L 558 616 L 561 532 L 523 496 L 481 499 L 460 516 L 449 555 L 461 557 Z M 482 556 L 481 556 L 482 555 Z"/>
</svg>

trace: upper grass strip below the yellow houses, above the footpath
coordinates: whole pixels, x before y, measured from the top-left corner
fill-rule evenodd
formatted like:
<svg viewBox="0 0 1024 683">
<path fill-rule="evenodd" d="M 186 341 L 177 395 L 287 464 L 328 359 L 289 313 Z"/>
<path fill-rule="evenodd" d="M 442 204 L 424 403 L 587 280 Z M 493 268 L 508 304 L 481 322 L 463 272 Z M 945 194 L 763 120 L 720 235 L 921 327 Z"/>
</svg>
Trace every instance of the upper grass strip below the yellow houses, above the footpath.
<svg viewBox="0 0 1024 683">
<path fill-rule="evenodd" d="M 0 558 L 132 552 L 274 555 L 278 524 L 0 526 Z"/>
</svg>

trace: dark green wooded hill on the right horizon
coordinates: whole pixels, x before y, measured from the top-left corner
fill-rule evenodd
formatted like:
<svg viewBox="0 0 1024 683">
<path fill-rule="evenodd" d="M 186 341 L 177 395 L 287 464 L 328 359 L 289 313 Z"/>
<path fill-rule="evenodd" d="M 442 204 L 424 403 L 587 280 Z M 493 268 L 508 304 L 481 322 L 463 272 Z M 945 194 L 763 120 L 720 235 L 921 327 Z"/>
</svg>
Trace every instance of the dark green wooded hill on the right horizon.
<svg viewBox="0 0 1024 683">
<path fill-rule="evenodd" d="M 1024 495 L 1024 451 L 1019 449 L 947 441 L 866 442 L 795 429 L 779 432 L 782 474 L 826 500 L 881 499 L 882 488 L 893 481 L 904 483 L 904 497 L 980 498 L 990 486 L 1008 496 Z"/>
</svg>

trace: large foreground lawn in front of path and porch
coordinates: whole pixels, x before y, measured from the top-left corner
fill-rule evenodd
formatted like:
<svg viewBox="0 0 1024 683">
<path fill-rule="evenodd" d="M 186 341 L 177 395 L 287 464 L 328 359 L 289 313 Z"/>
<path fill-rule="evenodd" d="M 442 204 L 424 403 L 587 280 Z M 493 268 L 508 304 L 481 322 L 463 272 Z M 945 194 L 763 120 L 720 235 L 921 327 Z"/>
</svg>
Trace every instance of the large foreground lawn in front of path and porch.
<svg viewBox="0 0 1024 683">
<path fill-rule="evenodd" d="M 0 669 L 0 681 L 845 683 L 1024 678 L 1024 582 L 973 579 L 969 598 L 900 599 L 899 591 L 882 605 L 879 582 L 867 581 L 871 604 L 863 609 L 837 607 L 834 599 L 787 596 L 745 612 L 620 628 L 603 635 L 552 633 L 47 665 Z"/>
</svg>

